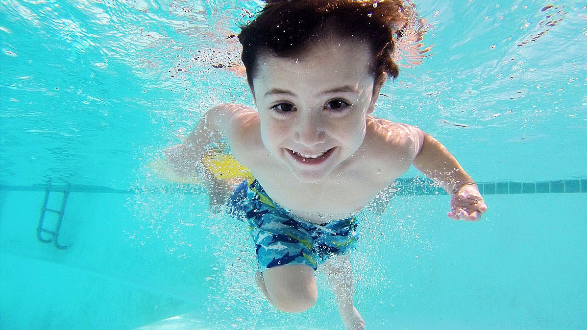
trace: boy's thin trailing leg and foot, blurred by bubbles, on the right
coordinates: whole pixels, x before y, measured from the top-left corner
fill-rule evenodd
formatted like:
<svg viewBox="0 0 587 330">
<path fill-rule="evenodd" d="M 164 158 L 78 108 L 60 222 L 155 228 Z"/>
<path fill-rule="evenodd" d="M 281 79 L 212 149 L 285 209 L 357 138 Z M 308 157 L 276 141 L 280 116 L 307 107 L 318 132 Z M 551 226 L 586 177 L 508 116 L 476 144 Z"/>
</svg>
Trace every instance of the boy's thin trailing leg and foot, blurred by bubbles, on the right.
<svg viewBox="0 0 587 330">
<path fill-rule="evenodd" d="M 336 305 L 346 329 L 364 329 L 365 321 L 353 303 L 353 273 L 350 269 L 349 255 L 332 256 L 319 266 L 335 295 Z"/>
</svg>

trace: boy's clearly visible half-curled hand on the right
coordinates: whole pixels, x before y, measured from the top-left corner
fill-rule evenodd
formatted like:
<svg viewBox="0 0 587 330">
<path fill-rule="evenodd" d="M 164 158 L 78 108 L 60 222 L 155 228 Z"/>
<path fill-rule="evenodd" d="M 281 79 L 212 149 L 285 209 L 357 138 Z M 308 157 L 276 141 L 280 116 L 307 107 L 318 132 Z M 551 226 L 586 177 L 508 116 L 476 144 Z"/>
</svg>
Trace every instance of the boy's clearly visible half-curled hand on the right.
<svg viewBox="0 0 587 330">
<path fill-rule="evenodd" d="M 467 183 L 451 195 L 447 216 L 453 220 L 477 221 L 486 210 L 487 205 L 477 185 Z"/>
</svg>

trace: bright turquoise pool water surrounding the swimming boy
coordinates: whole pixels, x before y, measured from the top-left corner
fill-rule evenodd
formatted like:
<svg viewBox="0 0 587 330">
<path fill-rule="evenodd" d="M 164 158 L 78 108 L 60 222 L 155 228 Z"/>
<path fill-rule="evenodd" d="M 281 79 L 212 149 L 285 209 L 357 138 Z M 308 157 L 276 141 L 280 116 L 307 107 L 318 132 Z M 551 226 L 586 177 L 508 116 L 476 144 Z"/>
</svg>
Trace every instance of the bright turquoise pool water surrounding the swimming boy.
<svg viewBox="0 0 587 330">
<path fill-rule="evenodd" d="M 587 4 L 414 3 L 431 49 L 376 113 L 443 142 L 490 210 L 453 222 L 406 173 L 363 226 L 357 308 L 370 329 L 587 328 Z M 241 223 L 147 166 L 210 106 L 252 104 L 227 36 L 260 6 L 2 0 L 0 328 L 340 328 L 320 274 L 314 308 L 272 309 Z M 49 178 L 52 208 L 72 185 L 67 249 L 36 234 Z"/>
</svg>

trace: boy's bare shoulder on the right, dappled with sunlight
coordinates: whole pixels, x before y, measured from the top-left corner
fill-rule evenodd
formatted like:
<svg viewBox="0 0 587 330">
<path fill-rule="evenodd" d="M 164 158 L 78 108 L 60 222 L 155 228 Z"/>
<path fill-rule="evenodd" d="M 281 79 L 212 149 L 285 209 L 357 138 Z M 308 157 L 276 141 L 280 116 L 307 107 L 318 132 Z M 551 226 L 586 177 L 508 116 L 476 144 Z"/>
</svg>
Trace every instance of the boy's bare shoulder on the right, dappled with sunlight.
<svg viewBox="0 0 587 330">
<path fill-rule="evenodd" d="M 393 159 L 409 166 L 420 151 L 424 132 L 413 125 L 369 116 L 365 139 L 374 157 L 382 157 L 386 162 Z M 403 167 L 402 164 L 396 165 Z"/>
</svg>

